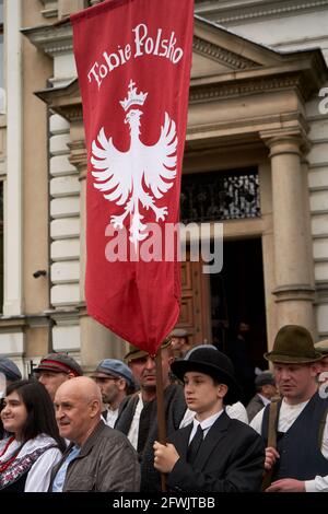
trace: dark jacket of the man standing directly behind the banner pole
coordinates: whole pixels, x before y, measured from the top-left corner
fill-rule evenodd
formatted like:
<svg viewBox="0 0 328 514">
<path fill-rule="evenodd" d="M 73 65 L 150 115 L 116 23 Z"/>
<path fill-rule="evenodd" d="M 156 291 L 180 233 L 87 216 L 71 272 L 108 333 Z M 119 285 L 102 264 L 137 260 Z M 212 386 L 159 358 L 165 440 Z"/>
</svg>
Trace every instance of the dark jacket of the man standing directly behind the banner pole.
<svg viewBox="0 0 328 514">
<path fill-rule="evenodd" d="M 125 399 L 120 405 L 120 413 L 115 429 L 125 434 L 129 433 L 131 422 L 138 404 L 138 395 Z M 164 390 L 164 406 L 167 437 L 175 432 L 187 410 L 184 389 L 180 385 L 172 384 Z M 154 441 L 157 434 L 157 402 L 145 404 L 141 411 L 139 422 L 138 454 L 141 465 L 141 491 L 161 491 L 161 476 L 154 468 Z"/>
</svg>

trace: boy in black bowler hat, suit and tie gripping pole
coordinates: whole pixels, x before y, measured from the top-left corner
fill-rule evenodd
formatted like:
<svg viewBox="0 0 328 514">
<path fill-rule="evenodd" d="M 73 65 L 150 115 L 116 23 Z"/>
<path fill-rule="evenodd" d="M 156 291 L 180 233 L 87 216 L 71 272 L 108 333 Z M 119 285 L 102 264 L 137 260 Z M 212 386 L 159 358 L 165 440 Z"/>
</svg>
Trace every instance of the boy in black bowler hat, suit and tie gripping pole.
<svg viewBox="0 0 328 514">
<path fill-rule="evenodd" d="M 186 402 L 196 416 L 168 437 L 168 444 L 154 443 L 154 466 L 168 474 L 168 488 L 199 493 L 259 491 L 265 463 L 261 437 L 224 411 L 224 405 L 241 396 L 229 357 L 215 348 L 198 347 L 175 361 L 172 370 L 184 381 Z"/>
</svg>

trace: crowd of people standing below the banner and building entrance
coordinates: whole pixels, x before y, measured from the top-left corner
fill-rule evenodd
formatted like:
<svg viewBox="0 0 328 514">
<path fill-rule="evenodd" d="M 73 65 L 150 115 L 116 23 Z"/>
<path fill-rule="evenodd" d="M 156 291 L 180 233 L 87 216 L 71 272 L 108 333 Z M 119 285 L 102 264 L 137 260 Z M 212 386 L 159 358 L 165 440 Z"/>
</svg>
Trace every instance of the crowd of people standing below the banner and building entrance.
<svg viewBox="0 0 328 514">
<path fill-rule="evenodd" d="M 176 329 L 161 358 L 166 443 L 145 351 L 91 376 L 54 352 L 30 379 L 0 358 L 0 492 L 328 492 L 328 341 L 282 327 L 247 404 L 214 346 Z"/>
</svg>

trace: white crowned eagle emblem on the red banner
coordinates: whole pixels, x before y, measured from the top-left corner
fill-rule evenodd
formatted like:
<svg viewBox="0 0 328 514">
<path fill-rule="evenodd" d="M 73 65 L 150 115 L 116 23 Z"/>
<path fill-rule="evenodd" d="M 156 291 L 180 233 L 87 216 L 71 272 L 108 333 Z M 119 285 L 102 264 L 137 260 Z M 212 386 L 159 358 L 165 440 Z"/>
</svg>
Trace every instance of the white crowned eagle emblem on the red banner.
<svg viewBox="0 0 328 514">
<path fill-rule="evenodd" d="M 104 192 L 108 201 L 125 206 L 120 215 L 112 215 L 110 222 L 115 229 L 122 229 L 124 221 L 130 214 L 130 241 L 138 245 L 149 235 L 147 225 L 142 223 L 140 205 L 151 209 L 155 220 L 165 220 L 167 207 L 159 208 L 155 199 L 162 198 L 173 186 L 176 176 L 176 126 L 165 113 L 161 136 L 154 145 L 143 144 L 140 139 L 140 117 L 142 112 L 136 106 L 143 105 L 148 93 L 137 94 L 132 80 L 129 83 L 128 97 L 120 102 L 127 112 L 125 122 L 130 129 L 130 148 L 120 152 L 113 144 L 113 138 L 107 139 L 104 127 L 99 130 L 97 140 L 92 142 L 93 165 L 92 175 L 94 187 Z M 130 109 L 130 107 L 133 108 Z"/>
</svg>

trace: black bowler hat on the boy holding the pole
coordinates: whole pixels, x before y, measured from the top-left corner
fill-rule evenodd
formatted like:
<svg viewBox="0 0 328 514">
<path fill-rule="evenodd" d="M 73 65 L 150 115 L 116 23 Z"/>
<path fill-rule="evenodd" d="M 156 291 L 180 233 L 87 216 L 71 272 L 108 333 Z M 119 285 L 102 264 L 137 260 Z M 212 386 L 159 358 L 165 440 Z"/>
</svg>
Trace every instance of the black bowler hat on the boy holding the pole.
<svg viewBox="0 0 328 514">
<path fill-rule="evenodd" d="M 234 376 L 232 361 L 214 347 L 199 346 L 189 351 L 185 359 L 173 362 L 171 369 L 180 381 L 189 371 L 198 371 L 211 376 L 220 384 L 225 384 L 227 386 L 227 393 L 223 399 L 225 405 L 235 404 L 241 398 L 242 392 Z"/>
</svg>

